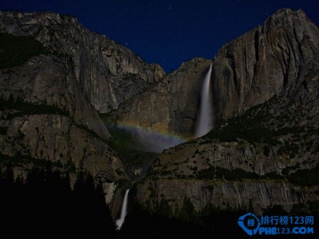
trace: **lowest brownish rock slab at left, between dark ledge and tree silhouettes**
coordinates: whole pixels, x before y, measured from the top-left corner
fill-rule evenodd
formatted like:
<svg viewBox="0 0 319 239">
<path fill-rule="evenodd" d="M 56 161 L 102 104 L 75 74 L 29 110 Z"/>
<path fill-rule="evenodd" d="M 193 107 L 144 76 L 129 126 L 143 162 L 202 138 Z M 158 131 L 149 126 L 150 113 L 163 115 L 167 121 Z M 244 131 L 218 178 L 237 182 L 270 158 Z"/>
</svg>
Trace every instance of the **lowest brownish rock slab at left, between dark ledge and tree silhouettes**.
<svg viewBox="0 0 319 239">
<path fill-rule="evenodd" d="M 8 120 L 6 135 L 1 135 L 1 153 L 83 166 L 96 178 L 113 182 L 123 173 L 123 164 L 113 150 L 100 139 L 60 115 L 30 115 Z M 118 170 L 118 172 L 116 172 Z"/>
</svg>

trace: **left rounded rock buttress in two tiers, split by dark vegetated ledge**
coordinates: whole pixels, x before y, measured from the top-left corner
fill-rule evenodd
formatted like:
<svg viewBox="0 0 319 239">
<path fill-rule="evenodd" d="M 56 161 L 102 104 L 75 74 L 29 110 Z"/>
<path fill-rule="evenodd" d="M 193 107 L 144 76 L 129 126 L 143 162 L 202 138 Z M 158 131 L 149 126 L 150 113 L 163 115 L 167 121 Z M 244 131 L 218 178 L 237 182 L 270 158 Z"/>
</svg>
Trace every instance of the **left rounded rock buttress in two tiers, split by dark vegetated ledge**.
<svg viewBox="0 0 319 239">
<path fill-rule="evenodd" d="M 104 183 L 111 203 L 118 180 L 127 174 L 73 73 L 67 57 L 50 54 L 0 70 L 1 104 L 6 101 L 0 106 L 1 165 L 9 157 L 16 176 L 22 177 L 43 160 L 61 171 L 84 168 Z"/>
</svg>

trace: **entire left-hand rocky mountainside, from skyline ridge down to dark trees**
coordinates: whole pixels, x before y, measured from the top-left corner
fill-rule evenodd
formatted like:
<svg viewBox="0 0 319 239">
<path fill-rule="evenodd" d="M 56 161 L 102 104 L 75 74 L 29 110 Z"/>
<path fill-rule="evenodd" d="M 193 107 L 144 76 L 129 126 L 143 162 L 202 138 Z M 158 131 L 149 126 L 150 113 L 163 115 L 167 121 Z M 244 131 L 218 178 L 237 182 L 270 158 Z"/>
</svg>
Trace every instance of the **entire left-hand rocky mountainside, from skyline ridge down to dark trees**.
<svg viewBox="0 0 319 239">
<path fill-rule="evenodd" d="M 0 70 L 1 102 L 23 101 L 1 107 L 1 155 L 27 159 L 14 165 L 22 174 L 43 159 L 61 170 L 83 167 L 105 183 L 111 203 L 127 174 L 107 144 L 110 134 L 97 111 L 116 109 L 159 81 L 164 71 L 58 13 L 0 11 L 0 32 L 32 36 L 48 52 Z"/>
</svg>

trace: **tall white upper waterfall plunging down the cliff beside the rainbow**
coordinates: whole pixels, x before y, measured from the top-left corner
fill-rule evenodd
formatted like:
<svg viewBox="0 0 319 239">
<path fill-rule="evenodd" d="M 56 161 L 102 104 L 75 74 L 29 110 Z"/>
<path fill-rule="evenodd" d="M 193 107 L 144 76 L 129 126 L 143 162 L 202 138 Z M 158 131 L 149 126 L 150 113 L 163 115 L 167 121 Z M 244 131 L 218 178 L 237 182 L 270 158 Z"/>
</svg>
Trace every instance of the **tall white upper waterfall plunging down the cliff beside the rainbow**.
<svg viewBox="0 0 319 239">
<path fill-rule="evenodd" d="M 196 137 L 206 134 L 212 125 L 211 94 L 209 91 L 211 68 L 212 64 L 205 76 L 204 84 L 201 89 L 199 120 L 195 132 Z"/>
</svg>

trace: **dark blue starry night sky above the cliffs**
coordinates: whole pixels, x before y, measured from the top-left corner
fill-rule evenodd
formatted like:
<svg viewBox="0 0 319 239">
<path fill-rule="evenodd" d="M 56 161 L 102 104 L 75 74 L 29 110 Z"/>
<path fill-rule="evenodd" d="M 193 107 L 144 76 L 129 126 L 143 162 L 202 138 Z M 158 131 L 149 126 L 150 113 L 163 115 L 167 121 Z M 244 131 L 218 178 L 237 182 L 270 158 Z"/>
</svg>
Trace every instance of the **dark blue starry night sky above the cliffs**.
<svg viewBox="0 0 319 239">
<path fill-rule="evenodd" d="M 0 0 L 1 10 L 76 16 L 166 72 L 195 56 L 213 58 L 223 44 L 283 7 L 302 8 L 319 23 L 319 0 Z"/>
</svg>

